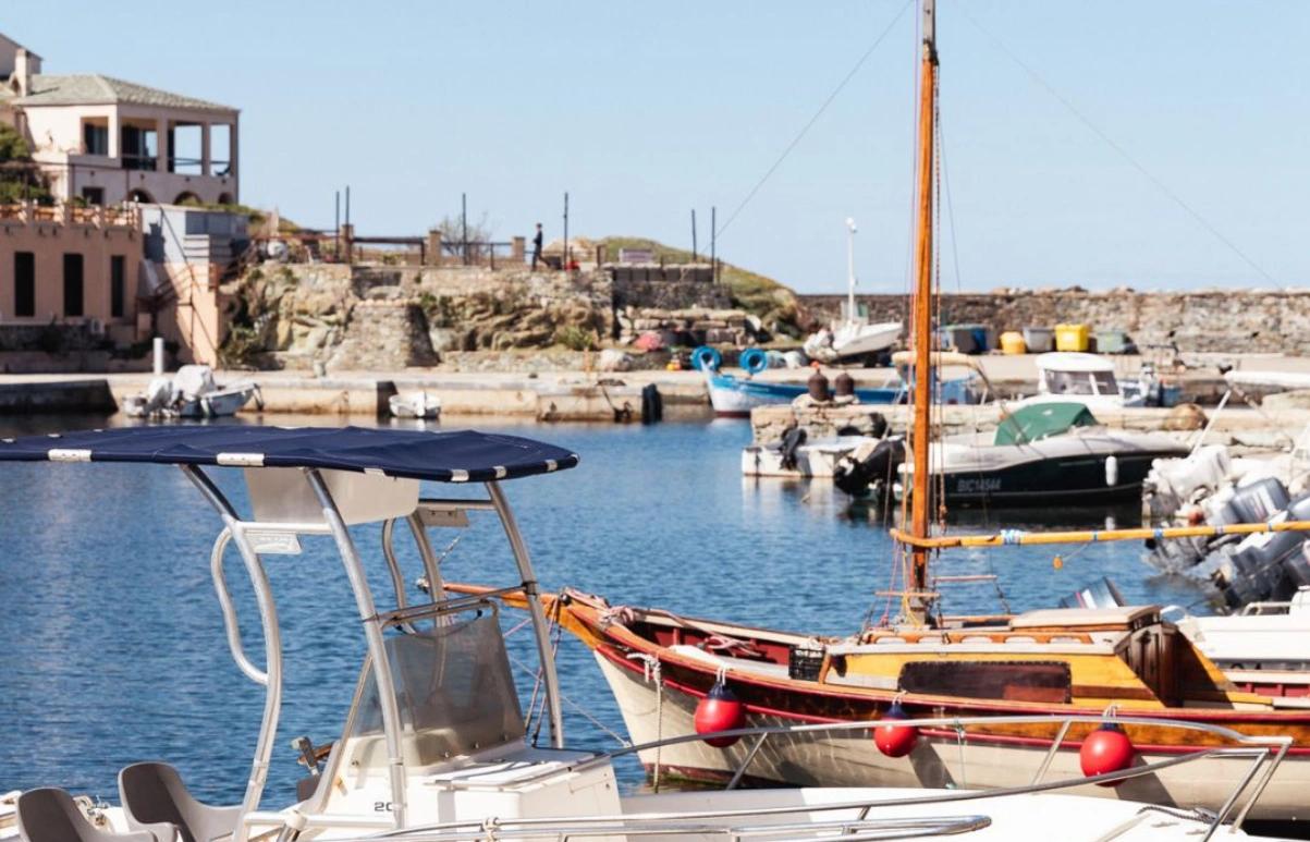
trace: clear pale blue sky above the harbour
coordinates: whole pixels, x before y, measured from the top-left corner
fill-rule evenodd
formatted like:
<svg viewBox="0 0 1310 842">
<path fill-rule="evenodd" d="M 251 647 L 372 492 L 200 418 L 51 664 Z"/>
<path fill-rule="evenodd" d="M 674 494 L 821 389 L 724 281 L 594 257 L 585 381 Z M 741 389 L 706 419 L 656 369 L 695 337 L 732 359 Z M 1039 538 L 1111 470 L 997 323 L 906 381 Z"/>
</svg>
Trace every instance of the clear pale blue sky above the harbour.
<svg viewBox="0 0 1310 842">
<path fill-rule="evenodd" d="M 240 107 L 242 199 L 305 225 L 330 227 L 350 183 L 360 233 L 419 233 L 466 191 L 498 237 L 557 237 L 567 190 L 574 233 L 689 246 L 694 207 L 703 246 L 710 207 L 722 223 L 904 5 L 47 0 L 5 4 L 0 30 L 47 72 Z M 1310 280 L 1310 4 L 939 7 L 946 289 L 1271 285 L 1220 237 Z M 914 25 L 904 10 L 720 255 L 836 291 L 853 216 L 861 288 L 905 288 Z"/>
</svg>

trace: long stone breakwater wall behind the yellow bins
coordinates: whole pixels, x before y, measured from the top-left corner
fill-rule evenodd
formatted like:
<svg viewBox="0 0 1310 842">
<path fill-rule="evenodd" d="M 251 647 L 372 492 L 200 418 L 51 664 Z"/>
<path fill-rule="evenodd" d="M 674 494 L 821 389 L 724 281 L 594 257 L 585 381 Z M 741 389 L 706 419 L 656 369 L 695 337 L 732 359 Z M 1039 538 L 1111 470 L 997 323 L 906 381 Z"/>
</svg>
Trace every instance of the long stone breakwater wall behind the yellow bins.
<svg viewBox="0 0 1310 842">
<path fill-rule="evenodd" d="M 799 296 L 816 323 L 834 318 L 845 296 Z M 871 321 L 907 321 L 904 295 L 862 295 Z M 1023 327 L 1086 323 L 1125 330 L 1138 347 L 1178 343 L 1183 351 L 1305 354 L 1310 348 L 1310 289 L 1203 289 L 1137 292 L 1112 289 L 998 289 L 943 293 L 942 323 L 976 322 L 997 335 Z"/>
</svg>

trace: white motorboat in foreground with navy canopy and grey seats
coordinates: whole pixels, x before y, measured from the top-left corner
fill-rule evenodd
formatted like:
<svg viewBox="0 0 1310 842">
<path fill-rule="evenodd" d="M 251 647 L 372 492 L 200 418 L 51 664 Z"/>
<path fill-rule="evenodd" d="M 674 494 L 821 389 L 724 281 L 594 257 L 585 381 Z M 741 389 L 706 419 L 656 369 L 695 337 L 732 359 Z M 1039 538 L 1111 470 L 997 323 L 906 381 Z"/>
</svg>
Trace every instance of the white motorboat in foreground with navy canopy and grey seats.
<svg viewBox="0 0 1310 842">
<path fill-rule="evenodd" d="M 1056 780 L 1036 773 L 1031 784 L 986 792 L 962 788 L 762 788 L 739 790 L 749 774 L 744 757 L 728 791 L 624 794 L 617 754 L 660 750 L 705 735 L 608 754 L 565 744 L 559 682 L 548 618 L 534 598 L 537 580 L 527 543 L 502 482 L 576 465 L 578 457 L 541 443 L 478 432 L 428 432 L 286 427 L 138 427 L 0 440 L 0 461 L 51 464 L 136 462 L 176 465 L 214 508 L 219 525 L 208 566 L 241 672 L 265 689 L 263 716 L 245 795 L 238 804 L 196 801 L 173 766 L 134 763 L 118 778 L 119 804 L 75 799 L 45 786 L 0 799 L 0 838 L 25 842 L 246 842 L 276 839 L 409 839 L 411 842 L 626 839 L 741 842 L 893 838 L 1192 839 L 1218 832 L 1243 837 L 1248 800 L 1259 796 L 1286 740 L 1250 741 L 1252 767 L 1234 800 L 1217 816 L 1158 811 L 1131 800 L 1106 801 L 1064 792 L 1089 782 L 1151 775 L 1153 766 Z M 211 474 L 244 474 L 249 511 L 240 512 Z M 52 470 L 94 471 L 94 465 Z M 421 481 L 466 490 L 424 498 Z M 69 502 L 73 503 L 73 502 Z M 474 519 L 499 520 L 514 559 L 511 584 L 479 595 L 444 587 L 431 529 L 469 529 Z M 367 564 L 362 530 L 381 536 Z M 406 529 L 422 571 L 403 571 L 394 538 Z M 0 526 L 3 528 L 3 526 Z M 495 529 L 495 526 L 493 526 Z M 266 574 L 270 555 L 297 555 L 301 540 L 322 537 L 337 549 L 354 595 L 365 653 L 348 710 L 324 723 L 318 748 L 308 737 L 276 753 L 283 708 L 283 647 L 278 600 Z M 262 664 L 245 650 L 224 566 L 234 554 L 258 606 Z M 198 559 L 204 563 L 203 559 Z M 282 559 L 279 564 L 295 564 Z M 422 572 L 427 589 L 407 584 Z M 372 576 L 369 575 L 372 574 Z M 328 570 L 314 577 L 326 579 Z M 388 583 L 381 591 L 377 581 Z M 528 718 L 549 723 L 549 740 L 528 735 L 499 627 L 496 597 L 532 595 L 531 629 L 540 657 L 540 694 Z M 14 595 L 17 596 L 17 595 Z M 215 687 L 216 690 L 216 687 Z M 537 701 L 541 702 L 540 710 Z M 1048 716 L 1038 718 L 1043 723 Z M 872 728 L 876 723 L 861 723 Z M 105 723 L 111 735 L 122 723 Z M 852 728 L 854 725 L 846 725 Z M 762 744 L 787 740 L 789 729 L 751 728 Z M 111 737 L 106 737 L 111 739 Z M 710 735 L 709 739 L 715 739 Z M 865 737 L 867 741 L 867 737 Z M 1256 745 L 1259 742 L 1259 745 Z M 39 750 L 39 746 L 38 746 Z M 203 750 L 203 746 L 198 746 Z M 1224 749 L 1217 749 L 1222 752 Z M 768 753 L 765 753 L 768 754 Z M 1272 757 L 1272 760 L 1271 760 Z M 194 758 L 193 766 L 195 766 Z M 291 804 L 265 803 L 271 769 L 301 762 L 308 777 Z M 1272 762 L 1272 765 L 1271 765 Z M 21 769 L 4 770 L 12 780 Z M 1048 779 L 1051 778 L 1051 779 Z M 28 782 L 46 784 L 52 782 Z M 1225 828 L 1224 824 L 1227 824 Z"/>
</svg>

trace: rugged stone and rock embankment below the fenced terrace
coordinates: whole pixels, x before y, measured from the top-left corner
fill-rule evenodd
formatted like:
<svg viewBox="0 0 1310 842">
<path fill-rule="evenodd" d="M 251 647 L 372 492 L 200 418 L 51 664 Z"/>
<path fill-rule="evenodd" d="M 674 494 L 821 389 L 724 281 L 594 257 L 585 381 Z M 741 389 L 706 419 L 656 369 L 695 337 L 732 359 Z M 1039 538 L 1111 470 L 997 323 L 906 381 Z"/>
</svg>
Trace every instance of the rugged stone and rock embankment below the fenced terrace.
<svg viewBox="0 0 1310 842">
<path fill-rule="evenodd" d="M 389 371 L 516 351 L 549 369 L 554 351 L 588 342 L 655 331 L 667 344 L 745 344 L 758 326 L 726 309 L 722 287 L 616 283 L 604 271 L 266 265 L 225 292 L 224 361 L 269 369 Z"/>
</svg>

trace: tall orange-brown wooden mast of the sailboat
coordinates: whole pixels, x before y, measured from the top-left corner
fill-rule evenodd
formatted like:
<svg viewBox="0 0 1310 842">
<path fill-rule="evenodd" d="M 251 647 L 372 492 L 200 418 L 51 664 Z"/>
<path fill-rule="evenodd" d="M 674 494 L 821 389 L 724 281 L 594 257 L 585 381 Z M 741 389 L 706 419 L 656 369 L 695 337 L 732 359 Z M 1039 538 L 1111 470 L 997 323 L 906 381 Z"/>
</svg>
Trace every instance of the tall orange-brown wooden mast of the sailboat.
<svg viewBox="0 0 1310 842">
<path fill-rule="evenodd" d="M 918 219 L 914 245 L 914 293 L 912 297 L 910 337 L 914 346 L 914 487 L 910 495 L 910 536 L 929 537 L 931 477 L 927 452 L 931 435 L 933 401 L 933 172 L 937 118 L 937 20 L 934 0 L 922 0 L 924 52 L 918 81 Z M 912 549 L 909 591 L 916 614 L 926 614 L 927 553 L 924 546 Z"/>
</svg>

